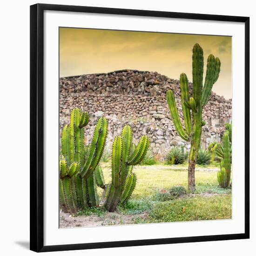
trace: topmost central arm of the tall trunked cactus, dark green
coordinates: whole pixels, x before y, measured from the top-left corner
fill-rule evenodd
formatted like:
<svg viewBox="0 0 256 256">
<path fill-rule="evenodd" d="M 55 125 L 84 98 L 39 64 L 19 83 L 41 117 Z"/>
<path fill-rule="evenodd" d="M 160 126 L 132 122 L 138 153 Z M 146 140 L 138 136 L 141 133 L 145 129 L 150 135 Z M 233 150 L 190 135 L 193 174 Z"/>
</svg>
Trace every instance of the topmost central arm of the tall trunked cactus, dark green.
<svg viewBox="0 0 256 256">
<path fill-rule="evenodd" d="M 203 50 L 199 44 L 195 44 L 192 54 L 192 74 L 193 74 L 193 98 L 196 105 L 201 101 L 202 78 L 203 78 Z"/>
</svg>

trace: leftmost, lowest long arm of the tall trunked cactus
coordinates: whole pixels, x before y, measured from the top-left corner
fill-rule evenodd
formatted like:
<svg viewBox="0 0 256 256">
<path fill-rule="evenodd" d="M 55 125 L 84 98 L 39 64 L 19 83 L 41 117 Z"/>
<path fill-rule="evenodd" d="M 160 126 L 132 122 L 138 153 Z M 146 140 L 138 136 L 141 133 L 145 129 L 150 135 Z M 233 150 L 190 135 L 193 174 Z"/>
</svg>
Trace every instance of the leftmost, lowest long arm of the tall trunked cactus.
<svg viewBox="0 0 256 256">
<path fill-rule="evenodd" d="M 182 122 L 181 122 L 179 114 L 178 114 L 178 110 L 177 110 L 176 102 L 175 102 L 175 97 L 174 97 L 174 93 L 173 93 L 172 90 L 167 91 L 166 100 L 167 100 L 168 107 L 169 107 L 169 110 L 170 110 L 170 114 L 171 114 L 171 117 L 172 117 L 172 121 L 174 123 L 174 126 L 175 126 L 175 129 L 176 129 L 177 133 L 179 134 L 179 136 L 184 141 L 189 141 L 189 135 L 187 134 L 187 132 L 182 127 Z"/>
</svg>

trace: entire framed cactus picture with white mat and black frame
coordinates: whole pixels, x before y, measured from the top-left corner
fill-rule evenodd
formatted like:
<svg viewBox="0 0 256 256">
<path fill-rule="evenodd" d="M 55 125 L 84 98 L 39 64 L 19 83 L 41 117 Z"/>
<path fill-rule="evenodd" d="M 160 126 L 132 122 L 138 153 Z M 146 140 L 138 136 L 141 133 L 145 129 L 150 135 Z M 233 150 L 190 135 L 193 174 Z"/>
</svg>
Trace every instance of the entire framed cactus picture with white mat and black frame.
<svg viewBox="0 0 256 256">
<path fill-rule="evenodd" d="M 30 7 L 30 248 L 249 238 L 249 17 Z"/>
</svg>

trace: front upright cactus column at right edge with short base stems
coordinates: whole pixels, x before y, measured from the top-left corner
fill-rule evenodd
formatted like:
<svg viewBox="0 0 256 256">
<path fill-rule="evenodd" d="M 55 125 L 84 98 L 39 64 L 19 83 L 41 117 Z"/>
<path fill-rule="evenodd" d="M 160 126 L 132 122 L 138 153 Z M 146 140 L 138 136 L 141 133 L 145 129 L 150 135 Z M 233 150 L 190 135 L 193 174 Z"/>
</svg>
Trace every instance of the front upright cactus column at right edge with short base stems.
<svg viewBox="0 0 256 256">
<path fill-rule="evenodd" d="M 222 138 L 222 147 L 220 149 L 222 160 L 221 170 L 217 174 L 219 185 L 222 188 L 227 188 L 230 182 L 231 175 L 231 152 L 229 142 L 229 132 L 226 131 Z"/>
</svg>

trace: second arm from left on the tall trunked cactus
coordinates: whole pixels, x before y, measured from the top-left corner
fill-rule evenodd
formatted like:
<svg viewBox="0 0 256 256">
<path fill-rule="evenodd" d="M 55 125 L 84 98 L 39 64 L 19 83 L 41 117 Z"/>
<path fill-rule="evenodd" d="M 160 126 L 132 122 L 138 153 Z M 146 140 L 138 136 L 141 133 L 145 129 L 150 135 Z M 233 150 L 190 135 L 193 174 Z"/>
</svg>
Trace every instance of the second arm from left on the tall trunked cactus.
<svg viewBox="0 0 256 256">
<path fill-rule="evenodd" d="M 186 106 L 185 102 L 189 100 L 189 81 L 187 75 L 182 73 L 180 75 L 180 87 L 182 92 L 182 112 L 185 122 L 187 133 L 191 132 L 191 116 L 190 109 Z"/>
</svg>

